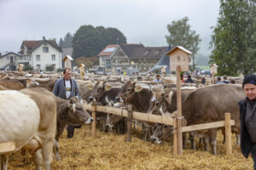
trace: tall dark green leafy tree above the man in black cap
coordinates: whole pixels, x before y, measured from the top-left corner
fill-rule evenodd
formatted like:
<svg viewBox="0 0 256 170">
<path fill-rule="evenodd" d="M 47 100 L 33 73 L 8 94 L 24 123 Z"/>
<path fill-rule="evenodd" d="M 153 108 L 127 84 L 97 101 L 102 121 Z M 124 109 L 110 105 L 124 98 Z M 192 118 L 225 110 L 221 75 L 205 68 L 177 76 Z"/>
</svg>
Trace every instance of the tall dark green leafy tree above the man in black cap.
<svg viewBox="0 0 256 170">
<path fill-rule="evenodd" d="M 255 1 L 220 0 L 217 26 L 212 34 L 210 63 L 218 65 L 219 75 L 236 76 L 256 70 Z"/>
</svg>

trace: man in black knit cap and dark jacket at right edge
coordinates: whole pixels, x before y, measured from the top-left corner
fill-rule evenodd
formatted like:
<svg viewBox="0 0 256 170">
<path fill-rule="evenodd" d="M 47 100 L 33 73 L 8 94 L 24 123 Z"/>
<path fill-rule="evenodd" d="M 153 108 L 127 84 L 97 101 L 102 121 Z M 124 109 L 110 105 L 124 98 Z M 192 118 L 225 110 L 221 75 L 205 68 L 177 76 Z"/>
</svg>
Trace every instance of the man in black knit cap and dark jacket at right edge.
<svg viewBox="0 0 256 170">
<path fill-rule="evenodd" d="M 247 75 L 242 82 L 246 94 L 245 99 L 238 103 L 240 106 L 240 135 L 241 153 L 246 158 L 253 158 L 253 167 L 256 169 L 256 75 Z"/>
</svg>

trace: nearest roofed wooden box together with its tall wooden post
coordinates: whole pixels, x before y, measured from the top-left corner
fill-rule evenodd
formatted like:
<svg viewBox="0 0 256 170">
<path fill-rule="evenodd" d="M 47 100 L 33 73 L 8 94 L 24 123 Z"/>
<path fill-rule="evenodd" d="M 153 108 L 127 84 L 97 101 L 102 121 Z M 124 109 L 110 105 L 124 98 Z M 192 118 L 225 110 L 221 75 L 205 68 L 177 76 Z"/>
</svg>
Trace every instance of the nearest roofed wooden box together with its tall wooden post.
<svg viewBox="0 0 256 170">
<path fill-rule="evenodd" d="M 189 54 L 192 54 L 188 49 L 182 46 L 172 48 L 167 54 L 170 55 L 170 71 L 176 71 L 177 77 L 177 119 L 174 122 L 175 133 L 173 138 L 175 154 L 183 155 L 183 138 L 182 138 L 182 102 L 181 102 L 181 71 L 189 71 Z"/>
</svg>

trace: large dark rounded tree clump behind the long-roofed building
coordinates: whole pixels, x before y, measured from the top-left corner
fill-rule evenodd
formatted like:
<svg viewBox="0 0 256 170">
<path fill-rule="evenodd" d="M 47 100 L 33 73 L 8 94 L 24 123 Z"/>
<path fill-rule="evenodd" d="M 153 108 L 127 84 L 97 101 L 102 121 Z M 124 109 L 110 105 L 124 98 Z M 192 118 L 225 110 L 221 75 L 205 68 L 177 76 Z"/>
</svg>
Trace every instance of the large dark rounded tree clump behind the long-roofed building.
<svg viewBox="0 0 256 170">
<path fill-rule="evenodd" d="M 108 44 L 115 44 L 117 38 L 119 43 L 126 43 L 126 37 L 116 28 L 80 26 L 73 36 L 73 58 L 96 56 Z"/>
</svg>

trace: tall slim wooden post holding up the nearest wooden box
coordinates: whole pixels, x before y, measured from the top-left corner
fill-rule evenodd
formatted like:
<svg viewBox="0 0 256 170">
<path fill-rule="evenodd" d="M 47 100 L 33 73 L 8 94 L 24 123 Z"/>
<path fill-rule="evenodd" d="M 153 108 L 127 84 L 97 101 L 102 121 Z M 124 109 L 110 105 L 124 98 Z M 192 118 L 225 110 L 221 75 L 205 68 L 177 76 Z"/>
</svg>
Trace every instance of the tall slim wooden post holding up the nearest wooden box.
<svg viewBox="0 0 256 170">
<path fill-rule="evenodd" d="M 181 83 L 180 83 L 181 66 L 177 65 L 177 117 L 182 117 L 182 101 L 181 101 Z M 182 120 L 177 119 L 177 155 L 183 155 L 183 136 L 182 136 Z"/>
</svg>

